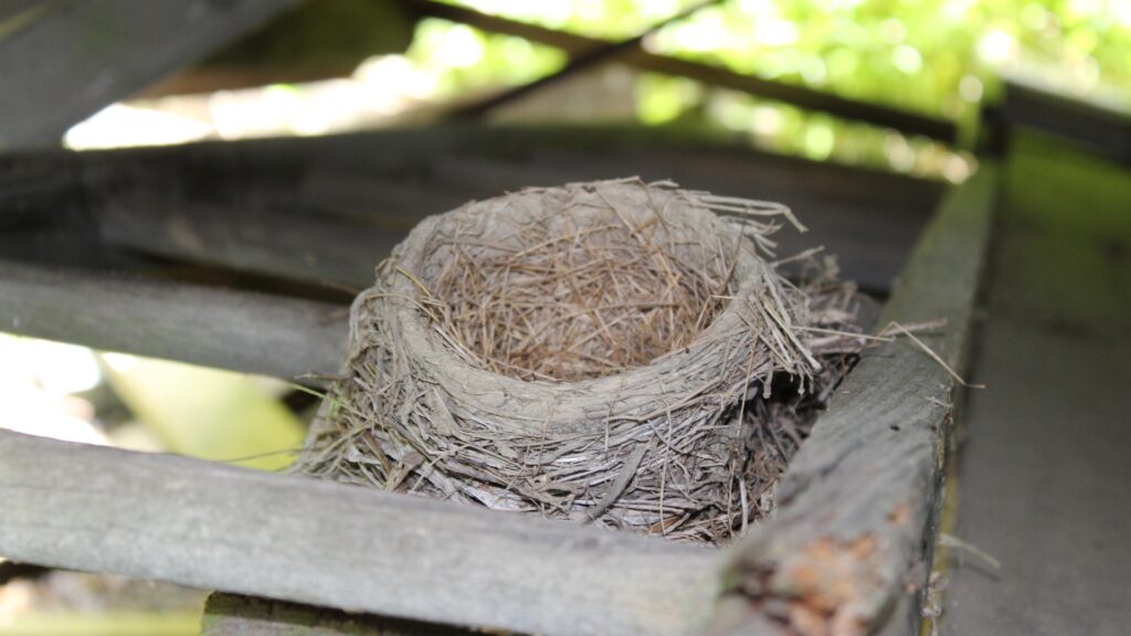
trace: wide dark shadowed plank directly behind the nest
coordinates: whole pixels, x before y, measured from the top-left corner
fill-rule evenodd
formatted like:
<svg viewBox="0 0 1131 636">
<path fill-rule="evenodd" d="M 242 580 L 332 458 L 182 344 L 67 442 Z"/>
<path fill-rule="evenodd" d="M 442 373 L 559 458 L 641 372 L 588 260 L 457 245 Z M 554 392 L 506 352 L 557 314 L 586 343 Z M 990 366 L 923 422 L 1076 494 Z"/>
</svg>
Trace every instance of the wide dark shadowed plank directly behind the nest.
<svg viewBox="0 0 1131 636">
<path fill-rule="evenodd" d="M 88 200 L 109 242 L 305 281 L 368 285 L 421 218 L 527 186 L 629 172 L 689 188 L 782 200 L 843 273 L 884 292 L 942 186 L 633 128 L 465 127 L 331 139 L 84 153 Z M 347 218 L 346 218 L 347 217 Z"/>
</svg>

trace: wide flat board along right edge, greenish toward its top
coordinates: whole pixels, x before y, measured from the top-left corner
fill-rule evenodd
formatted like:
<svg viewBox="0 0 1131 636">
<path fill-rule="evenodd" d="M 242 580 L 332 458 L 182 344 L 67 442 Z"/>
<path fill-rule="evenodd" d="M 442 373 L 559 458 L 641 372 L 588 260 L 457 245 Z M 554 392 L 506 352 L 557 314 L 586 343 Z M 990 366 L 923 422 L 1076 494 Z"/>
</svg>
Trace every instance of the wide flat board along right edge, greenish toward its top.
<svg viewBox="0 0 1131 636">
<path fill-rule="evenodd" d="M 1002 172 L 976 358 L 990 388 L 970 396 L 949 528 L 1001 567 L 948 550 L 939 633 L 1120 636 L 1131 625 L 1131 169 L 1025 132 Z"/>
</svg>

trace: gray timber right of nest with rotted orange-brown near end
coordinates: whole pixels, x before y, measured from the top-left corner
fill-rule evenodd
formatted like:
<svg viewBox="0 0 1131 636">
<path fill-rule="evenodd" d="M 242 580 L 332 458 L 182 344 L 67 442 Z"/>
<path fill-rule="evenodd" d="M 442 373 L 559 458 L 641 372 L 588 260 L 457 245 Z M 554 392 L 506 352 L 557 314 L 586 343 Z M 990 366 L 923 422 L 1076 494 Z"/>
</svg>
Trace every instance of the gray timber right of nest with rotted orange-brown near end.
<svg viewBox="0 0 1131 636">
<path fill-rule="evenodd" d="M 918 337 L 959 372 L 996 183 L 984 165 L 952 192 L 879 321 L 944 318 Z M 745 604 L 715 634 L 918 633 L 921 602 L 907 595 L 923 593 L 931 569 L 956 388 L 907 338 L 863 355 L 784 475 L 777 515 L 735 549 L 728 595 Z"/>
</svg>

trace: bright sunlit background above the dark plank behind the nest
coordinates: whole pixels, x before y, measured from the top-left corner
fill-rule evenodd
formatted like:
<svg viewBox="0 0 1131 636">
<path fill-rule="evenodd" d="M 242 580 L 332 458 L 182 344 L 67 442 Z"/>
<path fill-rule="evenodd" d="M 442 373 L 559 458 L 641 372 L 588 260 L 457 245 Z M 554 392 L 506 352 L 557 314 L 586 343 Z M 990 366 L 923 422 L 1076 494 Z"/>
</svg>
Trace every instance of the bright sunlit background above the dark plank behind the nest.
<svg viewBox="0 0 1131 636">
<path fill-rule="evenodd" d="M 681 0 L 452 2 L 516 20 L 618 40 L 679 14 Z M 728 0 L 645 40 L 649 51 L 959 121 L 969 132 L 1003 74 L 1098 101 L 1131 101 L 1131 0 Z M 349 77 L 115 104 L 72 128 L 74 148 L 323 135 L 414 121 L 455 98 L 560 69 L 566 55 L 526 40 L 425 18 L 404 54 Z M 973 158 L 936 141 L 848 123 L 685 78 L 612 67 L 566 108 L 518 120 L 683 121 L 749 136 L 775 152 L 960 181 Z M 601 91 L 601 84 L 610 84 Z M 596 102 L 596 103 L 595 103 Z M 561 101 L 555 102 L 561 106 Z"/>
</svg>

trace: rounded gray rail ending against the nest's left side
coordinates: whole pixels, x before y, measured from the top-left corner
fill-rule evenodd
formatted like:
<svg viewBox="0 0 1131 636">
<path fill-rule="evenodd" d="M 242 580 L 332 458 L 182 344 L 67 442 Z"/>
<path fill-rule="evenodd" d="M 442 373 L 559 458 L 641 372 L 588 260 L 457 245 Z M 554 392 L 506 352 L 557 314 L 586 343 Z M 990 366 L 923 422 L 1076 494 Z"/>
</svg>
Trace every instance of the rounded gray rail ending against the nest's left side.
<svg viewBox="0 0 1131 636">
<path fill-rule="evenodd" d="M 296 378 L 334 373 L 336 304 L 0 261 L 0 330 Z"/>
</svg>

